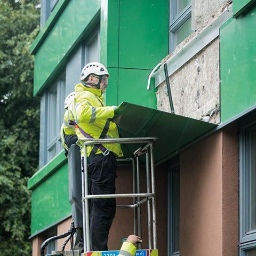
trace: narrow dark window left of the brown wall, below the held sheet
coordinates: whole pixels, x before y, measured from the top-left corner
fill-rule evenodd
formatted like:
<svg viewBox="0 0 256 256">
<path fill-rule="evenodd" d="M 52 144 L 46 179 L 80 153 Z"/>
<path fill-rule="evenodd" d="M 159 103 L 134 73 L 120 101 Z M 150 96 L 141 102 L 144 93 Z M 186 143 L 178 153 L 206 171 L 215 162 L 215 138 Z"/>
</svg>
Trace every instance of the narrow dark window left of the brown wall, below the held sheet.
<svg viewBox="0 0 256 256">
<path fill-rule="evenodd" d="M 180 250 L 180 171 L 177 162 L 169 163 L 168 204 L 168 255 L 174 256 L 179 255 Z"/>
</svg>

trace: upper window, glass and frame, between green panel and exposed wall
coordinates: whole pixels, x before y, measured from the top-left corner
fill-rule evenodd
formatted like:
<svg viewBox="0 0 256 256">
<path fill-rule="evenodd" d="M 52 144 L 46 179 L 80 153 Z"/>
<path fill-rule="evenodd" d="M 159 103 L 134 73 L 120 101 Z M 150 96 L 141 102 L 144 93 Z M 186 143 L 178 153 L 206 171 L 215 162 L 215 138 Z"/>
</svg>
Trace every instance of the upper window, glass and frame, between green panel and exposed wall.
<svg viewBox="0 0 256 256">
<path fill-rule="evenodd" d="M 191 0 L 170 0 L 170 52 L 187 38 L 191 29 Z"/>
</svg>

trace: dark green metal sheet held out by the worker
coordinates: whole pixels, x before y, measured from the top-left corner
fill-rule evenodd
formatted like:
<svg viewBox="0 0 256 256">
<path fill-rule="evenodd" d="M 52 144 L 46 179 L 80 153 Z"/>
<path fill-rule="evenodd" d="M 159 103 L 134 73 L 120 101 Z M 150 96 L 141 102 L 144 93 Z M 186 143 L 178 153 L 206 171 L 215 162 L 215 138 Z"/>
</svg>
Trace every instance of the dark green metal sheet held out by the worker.
<svg viewBox="0 0 256 256">
<path fill-rule="evenodd" d="M 217 126 L 126 102 L 118 106 L 116 114 L 122 138 L 158 138 L 154 146 L 156 163 Z M 126 146 L 123 147 L 126 157 L 131 156 L 127 149 L 133 153 L 138 148 L 131 144 Z"/>
</svg>

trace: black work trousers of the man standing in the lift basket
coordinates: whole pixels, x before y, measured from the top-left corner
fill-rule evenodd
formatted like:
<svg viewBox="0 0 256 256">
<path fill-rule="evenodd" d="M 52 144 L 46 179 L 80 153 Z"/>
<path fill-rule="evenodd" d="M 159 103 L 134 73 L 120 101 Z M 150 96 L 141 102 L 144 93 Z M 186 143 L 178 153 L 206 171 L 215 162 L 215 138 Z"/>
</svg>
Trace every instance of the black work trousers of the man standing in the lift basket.
<svg viewBox="0 0 256 256">
<path fill-rule="evenodd" d="M 89 194 L 115 194 L 116 157 L 95 155 L 88 159 Z M 108 250 L 108 234 L 116 213 L 115 198 L 96 198 L 89 201 L 91 251 Z"/>
</svg>

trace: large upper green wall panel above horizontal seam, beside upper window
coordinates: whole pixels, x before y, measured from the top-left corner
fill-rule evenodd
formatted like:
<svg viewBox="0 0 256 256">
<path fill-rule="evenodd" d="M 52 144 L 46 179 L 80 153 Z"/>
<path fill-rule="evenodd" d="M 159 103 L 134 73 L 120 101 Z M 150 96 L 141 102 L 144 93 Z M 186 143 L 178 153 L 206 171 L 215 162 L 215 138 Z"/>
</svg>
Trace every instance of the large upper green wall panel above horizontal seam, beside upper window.
<svg viewBox="0 0 256 256">
<path fill-rule="evenodd" d="M 153 69 L 168 54 L 169 0 L 119 5 L 119 67 Z"/>
</svg>

